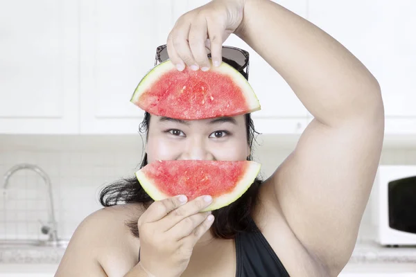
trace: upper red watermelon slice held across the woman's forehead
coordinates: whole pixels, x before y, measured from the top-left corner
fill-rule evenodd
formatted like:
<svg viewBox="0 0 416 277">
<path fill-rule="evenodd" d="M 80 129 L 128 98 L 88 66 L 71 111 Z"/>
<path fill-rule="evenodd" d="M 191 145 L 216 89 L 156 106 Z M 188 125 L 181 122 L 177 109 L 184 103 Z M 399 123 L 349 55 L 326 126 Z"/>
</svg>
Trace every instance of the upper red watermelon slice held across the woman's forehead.
<svg viewBox="0 0 416 277">
<path fill-rule="evenodd" d="M 248 81 L 225 62 L 209 71 L 193 71 L 188 66 L 178 71 L 171 60 L 162 62 L 139 82 L 130 102 L 150 114 L 182 120 L 237 116 L 261 109 Z"/>
</svg>

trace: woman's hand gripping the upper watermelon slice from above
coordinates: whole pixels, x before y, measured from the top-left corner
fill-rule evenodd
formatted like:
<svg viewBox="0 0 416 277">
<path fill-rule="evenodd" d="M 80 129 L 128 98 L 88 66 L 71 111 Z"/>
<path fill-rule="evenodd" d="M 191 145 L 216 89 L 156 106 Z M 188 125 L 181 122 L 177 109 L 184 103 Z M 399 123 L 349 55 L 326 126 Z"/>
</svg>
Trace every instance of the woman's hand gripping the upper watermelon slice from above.
<svg viewBox="0 0 416 277">
<path fill-rule="evenodd" d="M 179 19 L 168 35 L 168 55 L 182 71 L 185 67 L 202 71 L 222 61 L 223 42 L 239 28 L 246 0 L 214 0 L 191 10 Z"/>
</svg>

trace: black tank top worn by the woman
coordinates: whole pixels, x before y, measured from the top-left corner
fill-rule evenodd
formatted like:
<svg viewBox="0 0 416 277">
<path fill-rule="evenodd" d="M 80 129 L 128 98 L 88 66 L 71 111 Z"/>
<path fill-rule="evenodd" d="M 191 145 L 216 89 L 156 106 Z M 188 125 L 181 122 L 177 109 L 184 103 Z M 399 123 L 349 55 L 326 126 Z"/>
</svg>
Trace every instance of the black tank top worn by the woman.
<svg viewBox="0 0 416 277">
<path fill-rule="evenodd" d="M 279 257 L 255 224 L 250 220 L 253 232 L 237 233 L 235 277 L 287 277 Z M 139 250 L 140 260 L 140 250 Z"/>
</svg>

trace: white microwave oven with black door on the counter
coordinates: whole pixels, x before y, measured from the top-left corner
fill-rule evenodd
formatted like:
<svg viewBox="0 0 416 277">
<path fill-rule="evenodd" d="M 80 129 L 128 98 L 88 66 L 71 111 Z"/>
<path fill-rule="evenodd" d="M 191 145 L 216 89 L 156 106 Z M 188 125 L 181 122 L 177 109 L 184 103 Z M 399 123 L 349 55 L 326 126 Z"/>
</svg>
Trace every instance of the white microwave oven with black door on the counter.
<svg viewBox="0 0 416 277">
<path fill-rule="evenodd" d="M 416 246 L 416 166 L 379 166 L 374 183 L 376 242 Z"/>
</svg>

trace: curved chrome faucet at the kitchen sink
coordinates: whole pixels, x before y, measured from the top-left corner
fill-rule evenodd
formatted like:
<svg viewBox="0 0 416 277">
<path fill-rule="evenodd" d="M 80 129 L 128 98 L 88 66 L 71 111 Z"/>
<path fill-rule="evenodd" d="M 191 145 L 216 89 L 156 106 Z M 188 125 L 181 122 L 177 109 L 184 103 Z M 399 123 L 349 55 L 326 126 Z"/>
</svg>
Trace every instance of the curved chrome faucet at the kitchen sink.
<svg viewBox="0 0 416 277">
<path fill-rule="evenodd" d="M 49 243 L 58 244 L 57 224 L 55 220 L 55 212 L 53 211 L 53 195 L 52 195 L 51 179 L 49 179 L 49 176 L 46 174 L 46 172 L 44 172 L 44 170 L 42 170 L 42 168 L 40 168 L 39 166 L 35 166 L 29 163 L 20 163 L 16 166 L 13 166 L 12 168 L 10 168 L 10 170 L 6 172 L 6 174 L 4 175 L 3 188 L 4 190 L 6 190 L 10 177 L 12 177 L 12 175 L 15 172 L 19 170 L 23 170 L 23 169 L 35 171 L 44 180 L 46 189 L 48 190 L 49 220 L 46 225 L 42 226 L 41 231 L 45 235 L 49 235 L 49 240 L 48 240 Z"/>
</svg>

